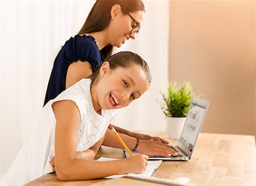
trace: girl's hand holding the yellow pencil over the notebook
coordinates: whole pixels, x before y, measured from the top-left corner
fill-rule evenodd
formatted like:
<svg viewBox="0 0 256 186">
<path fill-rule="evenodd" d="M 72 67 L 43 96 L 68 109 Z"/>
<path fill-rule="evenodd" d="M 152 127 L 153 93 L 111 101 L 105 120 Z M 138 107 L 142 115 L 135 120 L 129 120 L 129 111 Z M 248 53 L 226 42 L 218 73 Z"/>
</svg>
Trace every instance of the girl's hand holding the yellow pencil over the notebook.
<svg viewBox="0 0 256 186">
<path fill-rule="evenodd" d="M 148 164 L 148 156 L 144 154 L 139 154 L 131 158 L 126 158 L 125 160 L 128 161 L 127 173 L 142 173 L 142 171 L 146 169 Z"/>
</svg>

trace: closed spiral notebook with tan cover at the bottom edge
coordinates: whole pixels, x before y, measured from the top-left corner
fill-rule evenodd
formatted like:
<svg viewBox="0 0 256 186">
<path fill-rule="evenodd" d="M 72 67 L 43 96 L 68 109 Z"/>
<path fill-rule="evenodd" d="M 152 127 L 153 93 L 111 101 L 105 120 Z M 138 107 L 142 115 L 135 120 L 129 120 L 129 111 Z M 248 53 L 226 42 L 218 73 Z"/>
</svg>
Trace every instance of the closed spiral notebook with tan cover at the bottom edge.
<svg viewBox="0 0 256 186">
<path fill-rule="evenodd" d="M 117 179 L 102 181 L 100 183 L 93 184 L 92 186 L 126 186 L 126 185 L 140 185 L 140 186 L 160 186 L 160 185 L 173 185 L 173 186 L 195 186 L 194 184 L 190 183 L 179 183 L 175 180 L 168 180 L 168 179 L 162 179 L 158 177 L 150 177 L 150 176 L 141 176 L 136 175 L 134 173 L 129 173 L 125 177 L 119 177 Z"/>
</svg>

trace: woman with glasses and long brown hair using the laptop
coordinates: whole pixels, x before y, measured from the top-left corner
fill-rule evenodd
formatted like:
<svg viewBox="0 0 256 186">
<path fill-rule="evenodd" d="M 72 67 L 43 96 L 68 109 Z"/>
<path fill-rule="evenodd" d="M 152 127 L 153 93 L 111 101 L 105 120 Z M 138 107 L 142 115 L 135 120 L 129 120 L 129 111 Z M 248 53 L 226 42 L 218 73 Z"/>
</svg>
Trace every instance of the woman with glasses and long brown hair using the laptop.
<svg viewBox="0 0 256 186">
<path fill-rule="evenodd" d="M 70 38 L 57 55 L 44 105 L 82 78 L 92 75 L 96 66 L 112 54 L 113 46 L 121 47 L 126 40 L 135 39 L 144 19 L 144 11 L 141 0 L 97 0 L 79 34 Z M 142 154 L 177 155 L 164 139 L 114 127 L 123 133 L 119 135 L 129 148 L 136 146 Z M 121 144 L 115 142 L 114 134 L 108 130 L 103 144 L 122 148 Z"/>
</svg>

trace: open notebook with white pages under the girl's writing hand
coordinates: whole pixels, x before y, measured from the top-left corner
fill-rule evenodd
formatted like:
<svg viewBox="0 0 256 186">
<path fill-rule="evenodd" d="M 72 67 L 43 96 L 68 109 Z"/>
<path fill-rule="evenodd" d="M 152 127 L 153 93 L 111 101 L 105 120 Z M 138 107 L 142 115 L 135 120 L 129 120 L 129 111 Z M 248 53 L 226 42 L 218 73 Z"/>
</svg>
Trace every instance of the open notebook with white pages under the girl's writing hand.
<svg viewBox="0 0 256 186">
<path fill-rule="evenodd" d="M 117 159 L 114 159 L 114 158 L 105 158 L 105 157 L 101 157 L 99 159 L 97 159 L 97 161 L 109 161 L 109 160 L 117 160 Z M 162 160 L 153 160 L 153 161 L 147 161 L 148 164 L 147 164 L 147 167 L 146 167 L 146 170 L 144 170 L 142 173 L 140 174 L 135 174 L 135 175 L 139 175 L 139 176 L 151 176 L 152 173 L 154 173 L 158 167 L 160 166 L 160 164 L 162 164 Z M 112 176 L 106 176 L 105 178 L 108 178 L 108 179 L 115 179 L 115 178 L 118 178 L 118 177 L 123 177 L 123 176 L 127 176 L 126 175 L 112 175 Z"/>
</svg>

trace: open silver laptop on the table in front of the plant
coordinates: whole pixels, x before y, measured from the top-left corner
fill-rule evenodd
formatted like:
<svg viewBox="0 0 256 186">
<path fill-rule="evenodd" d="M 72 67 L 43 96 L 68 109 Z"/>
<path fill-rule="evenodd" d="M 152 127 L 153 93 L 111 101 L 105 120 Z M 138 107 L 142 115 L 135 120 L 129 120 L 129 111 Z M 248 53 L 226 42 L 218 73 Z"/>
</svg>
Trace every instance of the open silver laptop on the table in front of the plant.
<svg viewBox="0 0 256 186">
<path fill-rule="evenodd" d="M 162 156 L 149 156 L 150 160 L 189 160 L 192 156 L 195 148 L 196 140 L 199 136 L 201 127 L 204 122 L 205 114 L 210 101 L 203 98 L 193 97 L 187 118 L 177 146 L 171 146 L 176 151 L 180 152 L 179 156 L 162 157 Z M 133 155 L 139 154 L 138 152 L 132 152 Z M 130 157 L 130 154 L 125 150 L 126 158 Z"/>
</svg>

